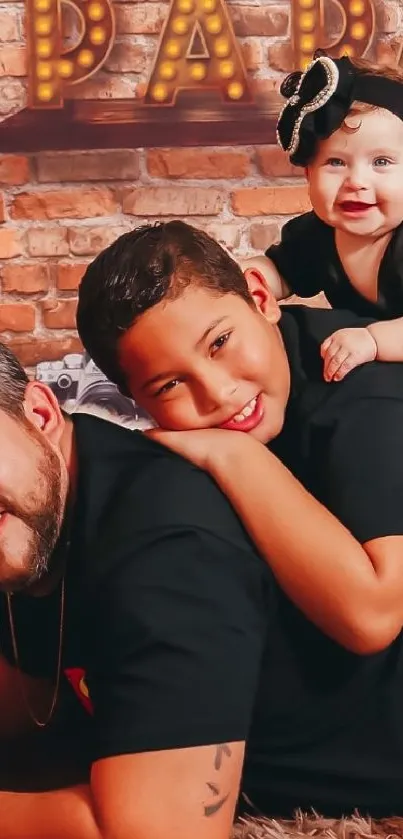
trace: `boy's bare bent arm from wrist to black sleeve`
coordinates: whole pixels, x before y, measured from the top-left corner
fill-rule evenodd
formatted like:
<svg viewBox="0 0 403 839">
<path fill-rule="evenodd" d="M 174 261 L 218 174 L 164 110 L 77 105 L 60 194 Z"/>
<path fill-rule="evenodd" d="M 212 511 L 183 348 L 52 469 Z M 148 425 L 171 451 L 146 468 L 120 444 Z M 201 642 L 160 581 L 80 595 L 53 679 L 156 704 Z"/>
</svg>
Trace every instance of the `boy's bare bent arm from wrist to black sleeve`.
<svg viewBox="0 0 403 839">
<path fill-rule="evenodd" d="M 212 474 L 279 584 L 348 649 L 384 649 L 403 624 L 403 535 L 361 545 L 268 449 L 244 437 L 238 452 L 217 447 Z"/>
</svg>

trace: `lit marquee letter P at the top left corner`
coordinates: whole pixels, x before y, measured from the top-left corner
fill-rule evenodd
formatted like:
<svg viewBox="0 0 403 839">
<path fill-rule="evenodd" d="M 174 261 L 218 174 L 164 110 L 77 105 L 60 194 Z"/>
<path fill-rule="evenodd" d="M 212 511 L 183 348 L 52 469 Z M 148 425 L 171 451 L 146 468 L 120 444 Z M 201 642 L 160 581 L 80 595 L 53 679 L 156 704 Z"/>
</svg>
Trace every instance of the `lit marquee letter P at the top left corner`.
<svg viewBox="0 0 403 839">
<path fill-rule="evenodd" d="M 62 49 L 61 4 L 80 22 L 79 42 Z M 115 35 L 111 0 L 27 0 L 29 106 L 62 108 L 65 85 L 82 82 L 106 61 Z"/>
</svg>

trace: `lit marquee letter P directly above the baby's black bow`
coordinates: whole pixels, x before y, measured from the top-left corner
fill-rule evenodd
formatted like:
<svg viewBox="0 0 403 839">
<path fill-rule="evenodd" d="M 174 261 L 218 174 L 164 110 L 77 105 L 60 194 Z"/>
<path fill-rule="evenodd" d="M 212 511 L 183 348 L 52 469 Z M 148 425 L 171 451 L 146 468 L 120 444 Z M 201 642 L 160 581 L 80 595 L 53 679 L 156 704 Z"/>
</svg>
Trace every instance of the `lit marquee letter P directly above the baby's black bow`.
<svg viewBox="0 0 403 839">
<path fill-rule="evenodd" d="M 325 4 L 335 3 L 343 16 L 343 30 L 336 42 L 325 31 Z M 369 47 L 375 29 L 373 0 L 293 0 L 292 40 L 295 67 L 304 70 L 316 49 L 337 58 L 359 58 Z"/>
</svg>

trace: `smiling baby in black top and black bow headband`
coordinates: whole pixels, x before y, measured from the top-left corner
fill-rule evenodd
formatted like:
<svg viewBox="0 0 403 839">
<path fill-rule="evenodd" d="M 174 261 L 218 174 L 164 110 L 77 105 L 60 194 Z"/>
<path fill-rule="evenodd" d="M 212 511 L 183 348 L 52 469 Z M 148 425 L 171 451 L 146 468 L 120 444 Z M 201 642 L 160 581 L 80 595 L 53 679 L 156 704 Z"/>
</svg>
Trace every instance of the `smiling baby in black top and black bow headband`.
<svg viewBox="0 0 403 839">
<path fill-rule="evenodd" d="M 375 358 L 403 360 L 403 71 L 321 55 L 282 93 L 278 140 L 305 168 L 313 212 L 241 265 L 263 272 L 277 299 L 323 290 L 376 319 L 323 343 L 324 378 L 340 381 Z"/>
</svg>

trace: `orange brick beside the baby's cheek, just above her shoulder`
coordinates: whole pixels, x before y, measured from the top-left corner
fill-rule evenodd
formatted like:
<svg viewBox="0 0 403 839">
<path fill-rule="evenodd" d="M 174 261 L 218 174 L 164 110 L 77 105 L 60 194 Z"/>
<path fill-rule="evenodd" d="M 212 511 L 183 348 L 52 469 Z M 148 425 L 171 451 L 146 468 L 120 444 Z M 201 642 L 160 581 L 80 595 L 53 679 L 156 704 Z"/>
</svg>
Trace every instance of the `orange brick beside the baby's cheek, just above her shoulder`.
<svg viewBox="0 0 403 839">
<path fill-rule="evenodd" d="M 238 189 L 232 194 L 238 216 L 297 215 L 311 209 L 307 186 L 268 186 Z"/>
</svg>

